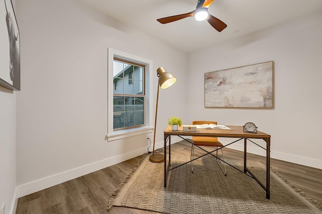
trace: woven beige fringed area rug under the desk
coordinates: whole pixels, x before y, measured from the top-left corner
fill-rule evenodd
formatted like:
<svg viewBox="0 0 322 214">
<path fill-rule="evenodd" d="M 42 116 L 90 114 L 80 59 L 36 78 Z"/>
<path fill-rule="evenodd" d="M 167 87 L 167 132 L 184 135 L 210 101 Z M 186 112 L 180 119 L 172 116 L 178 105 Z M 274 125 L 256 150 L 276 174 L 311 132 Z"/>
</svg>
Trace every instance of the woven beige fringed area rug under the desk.
<svg viewBox="0 0 322 214">
<path fill-rule="evenodd" d="M 187 161 L 172 156 L 172 167 Z M 243 161 L 226 160 L 238 169 Z M 248 168 L 265 182 L 265 165 L 248 162 Z M 226 166 L 224 176 L 215 158 L 205 156 L 170 171 L 164 187 L 164 163 L 144 157 L 111 196 L 108 209 L 124 206 L 163 213 L 322 213 L 322 205 L 271 171 L 271 198 L 251 177 Z"/>
</svg>

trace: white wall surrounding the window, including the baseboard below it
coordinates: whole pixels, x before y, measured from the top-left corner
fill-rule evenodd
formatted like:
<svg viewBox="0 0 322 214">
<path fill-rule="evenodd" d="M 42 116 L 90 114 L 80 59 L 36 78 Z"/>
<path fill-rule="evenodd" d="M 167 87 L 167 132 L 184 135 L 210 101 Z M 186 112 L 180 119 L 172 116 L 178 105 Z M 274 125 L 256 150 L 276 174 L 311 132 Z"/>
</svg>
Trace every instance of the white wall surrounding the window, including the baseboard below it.
<svg viewBox="0 0 322 214">
<path fill-rule="evenodd" d="M 178 78 L 159 95 L 156 142 L 181 107 L 187 55 L 77 1 L 17 1 L 21 88 L 17 95 L 18 196 L 147 151 L 152 133 L 107 142 L 108 47 L 153 61 Z M 169 110 L 168 105 L 175 102 Z M 167 108 L 167 109 L 166 109 Z M 154 116 L 154 110 L 153 110 Z M 150 147 L 150 151 L 152 148 Z"/>
</svg>

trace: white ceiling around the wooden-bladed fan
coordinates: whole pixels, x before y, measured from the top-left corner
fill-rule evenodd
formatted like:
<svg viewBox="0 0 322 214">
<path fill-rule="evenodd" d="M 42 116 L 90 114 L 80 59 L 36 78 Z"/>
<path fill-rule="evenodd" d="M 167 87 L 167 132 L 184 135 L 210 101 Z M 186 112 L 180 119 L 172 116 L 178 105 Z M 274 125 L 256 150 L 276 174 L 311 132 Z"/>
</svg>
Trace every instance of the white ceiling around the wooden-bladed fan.
<svg viewBox="0 0 322 214">
<path fill-rule="evenodd" d="M 217 32 L 206 21 L 197 22 L 193 17 L 168 24 L 156 21 L 195 10 L 197 0 L 77 1 L 185 52 L 322 10 L 322 0 L 214 0 L 209 13 L 228 26 Z"/>
</svg>

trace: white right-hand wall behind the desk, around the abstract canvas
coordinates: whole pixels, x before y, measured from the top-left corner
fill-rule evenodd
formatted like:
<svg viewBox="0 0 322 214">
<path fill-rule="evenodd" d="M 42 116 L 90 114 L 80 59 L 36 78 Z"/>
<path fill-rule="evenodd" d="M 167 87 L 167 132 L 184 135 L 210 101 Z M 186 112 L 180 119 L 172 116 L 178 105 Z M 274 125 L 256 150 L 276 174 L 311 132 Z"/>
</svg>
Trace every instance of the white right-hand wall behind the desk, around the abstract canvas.
<svg viewBox="0 0 322 214">
<path fill-rule="evenodd" d="M 321 20 L 319 12 L 189 54 L 188 120 L 254 122 L 271 134 L 272 158 L 322 169 Z M 273 110 L 204 108 L 204 73 L 267 61 L 275 62 Z"/>
</svg>

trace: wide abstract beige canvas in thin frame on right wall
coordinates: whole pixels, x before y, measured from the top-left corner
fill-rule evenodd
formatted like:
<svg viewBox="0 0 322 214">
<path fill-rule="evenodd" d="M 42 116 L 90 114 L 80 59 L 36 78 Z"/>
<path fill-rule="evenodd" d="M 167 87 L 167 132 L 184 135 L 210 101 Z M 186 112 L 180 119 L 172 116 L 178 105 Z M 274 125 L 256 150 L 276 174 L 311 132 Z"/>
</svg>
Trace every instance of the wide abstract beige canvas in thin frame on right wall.
<svg viewBox="0 0 322 214">
<path fill-rule="evenodd" d="M 205 73 L 205 108 L 274 108 L 274 62 Z"/>
</svg>

